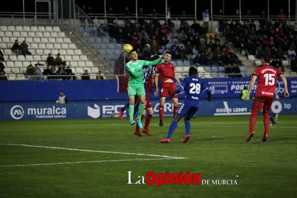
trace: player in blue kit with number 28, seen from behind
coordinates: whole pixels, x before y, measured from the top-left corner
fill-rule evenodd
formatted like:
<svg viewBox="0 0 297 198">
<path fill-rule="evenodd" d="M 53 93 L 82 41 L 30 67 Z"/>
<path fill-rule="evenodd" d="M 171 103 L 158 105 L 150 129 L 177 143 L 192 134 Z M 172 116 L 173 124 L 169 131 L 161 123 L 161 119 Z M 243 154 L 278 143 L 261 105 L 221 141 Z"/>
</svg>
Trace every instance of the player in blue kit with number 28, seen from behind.
<svg viewBox="0 0 297 198">
<path fill-rule="evenodd" d="M 210 90 L 208 89 L 207 85 L 200 78 L 198 78 L 197 74 L 197 69 L 195 67 L 190 67 L 189 77 L 184 78 L 181 81 L 181 85 L 178 87 L 178 89 L 171 93 L 171 95 L 174 95 L 184 90 L 186 98 L 181 107 L 178 109 L 176 117 L 171 122 L 167 137 L 165 139 L 159 140 L 159 142 L 170 143 L 171 135 L 177 126 L 177 122 L 182 117 L 185 117 L 184 123 L 186 127 L 186 136 L 184 137 L 182 143 L 187 143 L 190 139 L 190 119 L 199 109 L 200 93 L 202 93 L 202 91 L 206 91 L 208 95 L 207 100 L 211 101 Z"/>
</svg>

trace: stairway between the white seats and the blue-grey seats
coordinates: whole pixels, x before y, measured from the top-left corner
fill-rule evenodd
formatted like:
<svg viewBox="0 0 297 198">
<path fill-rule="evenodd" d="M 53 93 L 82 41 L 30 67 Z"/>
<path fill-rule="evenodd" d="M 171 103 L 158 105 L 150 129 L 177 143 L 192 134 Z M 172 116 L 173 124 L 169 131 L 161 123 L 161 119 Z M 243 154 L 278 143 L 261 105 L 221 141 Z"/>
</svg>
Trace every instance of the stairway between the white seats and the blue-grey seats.
<svg viewBox="0 0 297 198">
<path fill-rule="evenodd" d="M 102 71 L 103 73 L 105 73 L 105 75 L 111 75 L 113 74 L 113 70 L 114 68 L 109 66 L 108 69 L 111 71 L 111 72 L 108 72 L 108 70 L 106 70 L 105 66 L 101 63 L 101 62 L 106 62 L 106 65 L 110 65 L 110 61 L 106 61 L 105 60 L 105 56 L 103 55 L 97 55 L 98 58 L 99 58 L 99 61 L 98 60 L 95 60 L 93 54 L 87 49 L 84 47 L 83 43 L 81 43 L 78 39 L 76 39 L 75 35 L 73 34 L 69 34 L 68 31 L 64 31 L 65 32 L 65 35 L 70 38 L 71 42 L 72 43 L 75 43 L 76 47 L 78 49 L 81 49 L 82 53 L 84 55 L 87 56 L 87 58 L 93 62 L 93 65 L 95 67 L 98 67 L 99 71 Z M 87 39 L 86 38 L 83 38 L 83 37 L 80 37 L 80 39 L 83 40 L 83 42 L 86 42 L 88 43 Z M 108 76 L 106 76 L 106 78 L 108 78 Z"/>
</svg>

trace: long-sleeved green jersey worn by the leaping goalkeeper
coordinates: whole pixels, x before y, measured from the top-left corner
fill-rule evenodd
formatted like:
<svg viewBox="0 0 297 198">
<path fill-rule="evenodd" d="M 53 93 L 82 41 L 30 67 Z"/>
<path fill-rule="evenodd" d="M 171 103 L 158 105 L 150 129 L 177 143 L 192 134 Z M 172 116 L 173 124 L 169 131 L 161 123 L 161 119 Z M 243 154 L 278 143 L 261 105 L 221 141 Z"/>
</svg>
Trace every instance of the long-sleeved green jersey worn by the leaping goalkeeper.
<svg viewBox="0 0 297 198">
<path fill-rule="evenodd" d="M 136 63 L 129 61 L 126 63 L 126 69 L 128 70 L 128 84 L 143 84 L 143 67 L 150 65 L 157 65 L 161 61 L 161 58 L 158 58 L 154 61 L 144 61 L 137 60 Z"/>
</svg>

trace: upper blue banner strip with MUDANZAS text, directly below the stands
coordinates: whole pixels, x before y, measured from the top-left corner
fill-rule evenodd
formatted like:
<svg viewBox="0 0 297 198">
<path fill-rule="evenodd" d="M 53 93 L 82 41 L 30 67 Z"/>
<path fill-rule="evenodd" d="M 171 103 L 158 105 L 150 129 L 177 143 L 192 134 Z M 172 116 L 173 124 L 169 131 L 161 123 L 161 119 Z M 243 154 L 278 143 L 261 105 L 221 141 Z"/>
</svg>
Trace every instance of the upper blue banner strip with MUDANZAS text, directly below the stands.
<svg viewBox="0 0 297 198">
<path fill-rule="evenodd" d="M 241 90 L 248 87 L 250 78 L 203 79 L 212 93 L 212 98 L 238 98 Z M 124 91 L 127 84 L 117 80 L 89 81 L 2 81 L 0 101 L 44 101 L 58 100 L 60 91 L 64 91 L 68 100 L 124 100 L 128 94 Z M 297 96 L 297 78 L 287 78 L 290 96 Z M 123 86 L 122 86 L 123 85 Z M 121 87 L 122 86 L 122 87 Z M 178 84 L 176 84 L 178 86 Z M 257 84 L 252 89 L 255 94 Z M 153 87 L 155 90 L 155 87 Z M 13 90 L 13 91 L 12 91 Z M 161 89 L 159 89 L 161 90 Z M 280 79 L 277 92 L 283 95 L 284 89 Z M 155 98 L 150 93 L 150 98 Z M 179 94 L 184 98 L 184 94 Z M 202 98 L 207 98 L 206 93 Z"/>
</svg>

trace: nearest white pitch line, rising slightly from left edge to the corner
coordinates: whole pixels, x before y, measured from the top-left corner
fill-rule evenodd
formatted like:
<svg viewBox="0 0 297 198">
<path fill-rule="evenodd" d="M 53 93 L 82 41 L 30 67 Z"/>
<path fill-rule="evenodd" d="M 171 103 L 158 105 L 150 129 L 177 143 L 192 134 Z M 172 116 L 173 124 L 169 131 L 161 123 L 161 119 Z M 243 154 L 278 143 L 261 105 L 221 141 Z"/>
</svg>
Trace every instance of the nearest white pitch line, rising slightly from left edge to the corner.
<svg viewBox="0 0 297 198">
<path fill-rule="evenodd" d="M 1 165 L 0 167 L 48 166 L 48 165 L 61 165 L 61 164 L 99 163 L 99 162 L 116 162 L 116 161 L 148 161 L 148 160 L 168 160 L 168 159 L 182 159 L 182 158 L 156 158 L 156 159 L 127 159 L 127 160 L 102 160 L 102 161 L 76 161 L 76 162 L 59 162 L 59 163 L 48 163 L 48 164 Z"/>
</svg>

